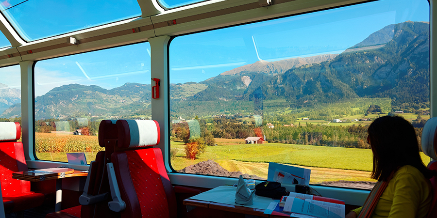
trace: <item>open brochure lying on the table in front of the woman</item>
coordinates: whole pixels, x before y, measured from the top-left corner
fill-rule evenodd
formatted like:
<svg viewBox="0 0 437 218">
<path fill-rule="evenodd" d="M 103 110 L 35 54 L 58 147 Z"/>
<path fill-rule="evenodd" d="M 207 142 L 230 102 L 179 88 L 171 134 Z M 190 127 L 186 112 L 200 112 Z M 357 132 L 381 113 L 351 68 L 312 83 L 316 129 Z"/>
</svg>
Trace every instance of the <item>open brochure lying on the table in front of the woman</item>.
<svg viewBox="0 0 437 218">
<path fill-rule="evenodd" d="M 288 196 L 284 212 L 314 216 L 318 218 L 344 218 L 345 205 L 331 202 L 295 198 Z"/>
</svg>

